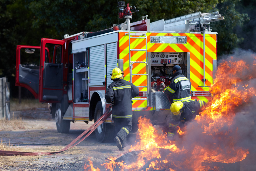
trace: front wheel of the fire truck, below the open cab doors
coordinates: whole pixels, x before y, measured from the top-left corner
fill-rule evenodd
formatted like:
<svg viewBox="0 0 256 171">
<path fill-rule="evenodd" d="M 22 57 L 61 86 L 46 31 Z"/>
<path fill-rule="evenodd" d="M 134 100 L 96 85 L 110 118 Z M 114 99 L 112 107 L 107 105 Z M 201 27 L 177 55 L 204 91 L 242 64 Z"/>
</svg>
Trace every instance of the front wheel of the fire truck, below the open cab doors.
<svg viewBox="0 0 256 171">
<path fill-rule="evenodd" d="M 59 133 L 67 134 L 70 129 L 70 120 L 63 120 L 63 111 L 61 111 L 60 103 L 56 104 L 55 122 Z"/>
</svg>

